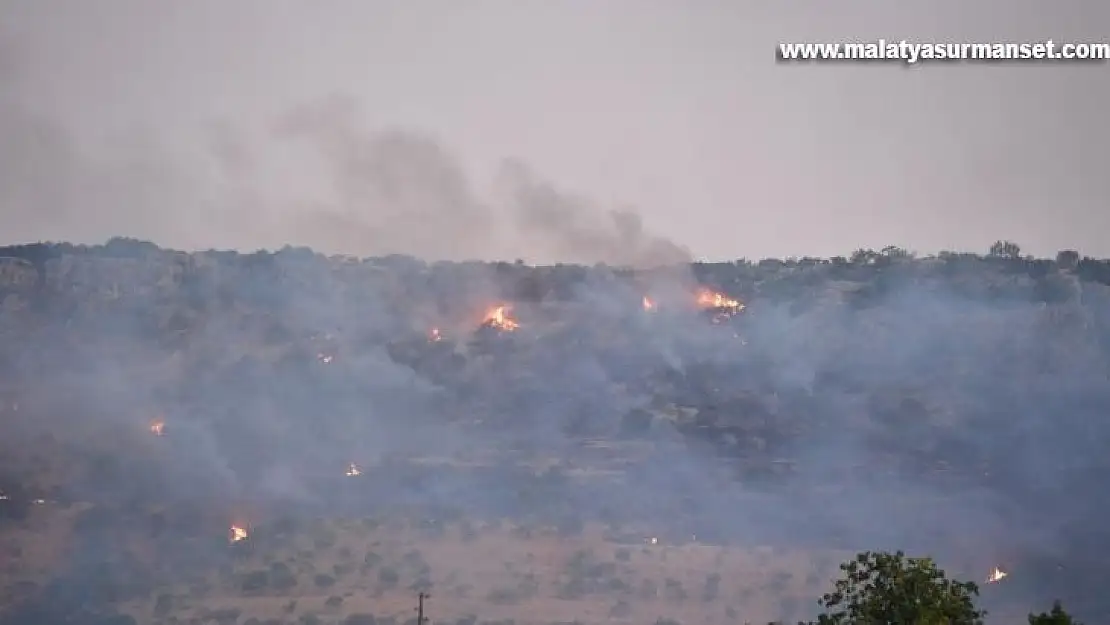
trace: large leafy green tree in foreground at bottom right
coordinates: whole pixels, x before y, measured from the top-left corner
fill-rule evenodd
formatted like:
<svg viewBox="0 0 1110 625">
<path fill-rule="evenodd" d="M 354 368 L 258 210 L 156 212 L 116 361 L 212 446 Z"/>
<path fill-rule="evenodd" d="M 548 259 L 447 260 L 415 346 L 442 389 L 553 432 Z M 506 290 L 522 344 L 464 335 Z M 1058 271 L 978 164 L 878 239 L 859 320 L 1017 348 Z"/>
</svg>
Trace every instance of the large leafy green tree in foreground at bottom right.
<svg viewBox="0 0 1110 625">
<path fill-rule="evenodd" d="M 982 625 L 979 587 L 949 579 L 931 558 L 864 552 L 840 565 L 844 576 L 819 601 L 819 625 Z"/>
</svg>

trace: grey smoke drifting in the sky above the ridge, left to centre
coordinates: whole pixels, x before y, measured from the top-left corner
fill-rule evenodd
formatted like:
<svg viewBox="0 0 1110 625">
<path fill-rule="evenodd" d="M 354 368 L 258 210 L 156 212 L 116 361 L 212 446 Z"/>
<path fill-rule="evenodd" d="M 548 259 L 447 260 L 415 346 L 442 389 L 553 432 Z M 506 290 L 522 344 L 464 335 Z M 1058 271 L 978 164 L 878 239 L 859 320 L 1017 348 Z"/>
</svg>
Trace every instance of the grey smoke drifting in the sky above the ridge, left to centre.
<svg viewBox="0 0 1110 625">
<path fill-rule="evenodd" d="M 12 88 L 17 78 L 14 69 L 0 74 Z M 262 128 L 214 120 L 181 142 L 143 127 L 78 138 L 10 92 L 0 98 L 0 214 L 11 242 L 125 235 L 186 250 L 297 244 L 359 256 L 630 266 L 689 259 L 633 209 L 593 205 L 518 160 L 476 183 L 436 138 L 365 128 L 360 103 L 345 95 Z"/>
</svg>

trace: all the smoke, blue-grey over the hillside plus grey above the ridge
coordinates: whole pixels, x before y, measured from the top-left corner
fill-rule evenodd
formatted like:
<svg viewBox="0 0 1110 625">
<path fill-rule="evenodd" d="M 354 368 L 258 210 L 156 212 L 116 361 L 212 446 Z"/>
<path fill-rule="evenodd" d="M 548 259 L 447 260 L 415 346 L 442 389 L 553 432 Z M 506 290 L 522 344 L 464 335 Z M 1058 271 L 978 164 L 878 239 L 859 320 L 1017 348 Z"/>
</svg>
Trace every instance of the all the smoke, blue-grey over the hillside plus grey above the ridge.
<svg viewBox="0 0 1110 625">
<path fill-rule="evenodd" d="M 16 81 L 9 59 L 0 80 Z M 480 184 L 436 138 L 367 129 L 345 97 L 195 135 L 104 145 L 0 97 L 8 236 L 281 249 L 115 242 L 59 252 L 38 295 L 4 292 L 3 457 L 32 488 L 107 511 L 56 589 L 94 594 L 103 545 L 157 506 L 216 536 L 232 516 L 406 505 L 573 516 L 668 542 L 905 547 L 970 576 L 1030 551 L 1103 555 L 1101 284 L 986 262 L 690 269 L 632 210 L 519 161 Z M 664 269 L 434 262 L 473 259 Z M 695 274 L 746 314 L 693 310 Z M 1063 301 L 1045 305 L 1050 289 Z M 495 302 L 518 332 L 476 329 Z M 157 415 L 165 436 L 147 431 Z M 350 462 L 364 480 L 344 481 Z M 69 471 L 41 468 L 56 464 Z M 619 478 L 589 477 L 606 472 Z M 157 543 L 168 569 L 223 562 L 223 544 L 174 541 Z M 1040 582 L 1022 589 L 1059 589 Z"/>
</svg>

